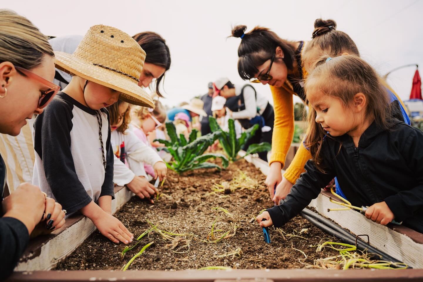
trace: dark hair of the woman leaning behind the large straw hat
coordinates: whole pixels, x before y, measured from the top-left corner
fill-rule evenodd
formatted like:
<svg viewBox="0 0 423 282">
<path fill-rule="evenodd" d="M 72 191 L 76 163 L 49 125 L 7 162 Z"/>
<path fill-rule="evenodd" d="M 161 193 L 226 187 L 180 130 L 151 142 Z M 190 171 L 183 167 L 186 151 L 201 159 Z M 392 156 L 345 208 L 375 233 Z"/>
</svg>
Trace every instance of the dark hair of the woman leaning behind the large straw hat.
<svg viewBox="0 0 423 282">
<path fill-rule="evenodd" d="M 156 66 L 165 68 L 166 71 L 170 68 L 170 51 L 166 45 L 165 39 L 157 33 L 146 31 L 137 33 L 132 38 L 140 44 L 141 48 L 146 51 L 146 63 L 151 63 Z M 164 79 L 165 74 L 162 74 L 156 81 L 156 93 L 163 97 L 159 91 L 159 84 Z"/>
</svg>

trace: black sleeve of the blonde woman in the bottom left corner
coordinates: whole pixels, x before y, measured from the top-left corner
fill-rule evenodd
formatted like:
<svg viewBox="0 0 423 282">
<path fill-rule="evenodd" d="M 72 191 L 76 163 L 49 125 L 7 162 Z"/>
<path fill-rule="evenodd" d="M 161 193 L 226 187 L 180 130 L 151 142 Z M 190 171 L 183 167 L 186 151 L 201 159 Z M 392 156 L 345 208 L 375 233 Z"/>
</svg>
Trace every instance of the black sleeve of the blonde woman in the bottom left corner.
<svg viewBox="0 0 423 282">
<path fill-rule="evenodd" d="M 8 277 L 29 241 L 26 226 L 13 217 L 0 218 L 0 281 Z"/>
</svg>

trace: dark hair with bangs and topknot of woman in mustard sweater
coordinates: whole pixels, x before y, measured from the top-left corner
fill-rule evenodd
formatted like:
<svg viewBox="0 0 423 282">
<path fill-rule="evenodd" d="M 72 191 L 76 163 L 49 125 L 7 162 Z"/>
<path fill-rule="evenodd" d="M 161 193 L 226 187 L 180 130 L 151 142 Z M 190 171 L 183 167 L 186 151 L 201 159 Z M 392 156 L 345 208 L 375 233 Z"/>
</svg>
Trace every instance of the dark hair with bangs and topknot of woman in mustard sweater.
<svg viewBox="0 0 423 282">
<path fill-rule="evenodd" d="M 294 42 L 280 38 L 266 27 L 254 27 L 245 33 L 247 26 L 237 25 L 232 28 L 233 37 L 242 37 L 238 47 L 238 73 L 242 79 L 250 79 L 258 72 L 266 60 L 270 60 L 275 54 L 276 47 L 283 51 L 283 61 L 289 70 L 293 69 L 295 47 Z"/>
</svg>

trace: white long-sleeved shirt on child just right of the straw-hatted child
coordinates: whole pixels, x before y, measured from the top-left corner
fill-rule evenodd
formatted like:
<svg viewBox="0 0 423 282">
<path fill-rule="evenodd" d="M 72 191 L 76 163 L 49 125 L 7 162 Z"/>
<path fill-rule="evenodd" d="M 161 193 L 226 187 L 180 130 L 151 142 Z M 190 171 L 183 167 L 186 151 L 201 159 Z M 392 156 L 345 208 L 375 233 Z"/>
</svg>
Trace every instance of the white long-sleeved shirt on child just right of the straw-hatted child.
<svg viewBox="0 0 423 282">
<path fill-rule="evenodd" d="M 135 176 L 144 176 L 148 179 L 144 162 L 151 166 L 163 162 L 153 148 L 144 144 L 130 130 L 124 133 L 115 130 L 110 137 L 115 154 L 113 182 L 119 186 L 128 184 Z"/>
</svg>

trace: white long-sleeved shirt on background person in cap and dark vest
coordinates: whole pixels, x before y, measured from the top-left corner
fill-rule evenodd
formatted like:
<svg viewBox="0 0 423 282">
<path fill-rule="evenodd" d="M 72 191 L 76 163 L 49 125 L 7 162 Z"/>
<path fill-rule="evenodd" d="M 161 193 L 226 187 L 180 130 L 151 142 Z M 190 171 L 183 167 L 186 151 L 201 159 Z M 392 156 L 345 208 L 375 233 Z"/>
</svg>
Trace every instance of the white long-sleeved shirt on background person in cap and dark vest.
<svg viewBox="0 0 423 282">
<path fill-rule="evenodd" d="M 235 85 L 236 96 L 241 95 L 242 87 L 244 87 L 244 85 Z M 267 100 L 266 97 L 264 97 L 260 93 L 257 93 L 257 101 L 256 101 L 253 88 L 246 87 L 244 88 L 245 110 L 242 110 L 239 112 L 233 112 L 232 118 L 234 119 L 254 118 L 257 115 L 257 107 L 260 109 L 258 113 L 261 115 L 266 109 L 267 103 L 269 103 L 269 100 Z"/>
</svg>

